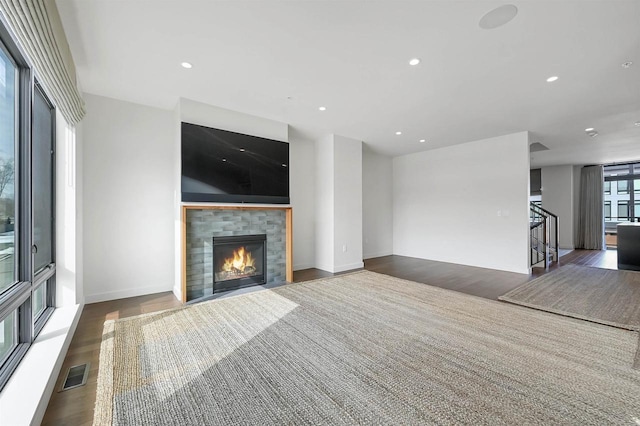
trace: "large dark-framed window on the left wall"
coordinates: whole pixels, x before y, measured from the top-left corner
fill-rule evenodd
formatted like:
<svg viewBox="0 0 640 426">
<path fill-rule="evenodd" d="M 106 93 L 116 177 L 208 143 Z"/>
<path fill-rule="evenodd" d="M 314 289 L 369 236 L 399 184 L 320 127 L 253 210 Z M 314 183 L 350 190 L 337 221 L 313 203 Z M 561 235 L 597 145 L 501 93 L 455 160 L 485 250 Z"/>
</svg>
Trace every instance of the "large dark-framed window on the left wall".
<svg viewBox="0 0 640 426">
<path fill-rule="evenodd" d="M 54 113 L 0 23 L 0 391 L 55 306 Z"/>
</svg>

